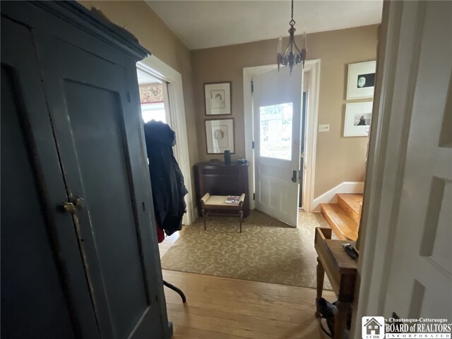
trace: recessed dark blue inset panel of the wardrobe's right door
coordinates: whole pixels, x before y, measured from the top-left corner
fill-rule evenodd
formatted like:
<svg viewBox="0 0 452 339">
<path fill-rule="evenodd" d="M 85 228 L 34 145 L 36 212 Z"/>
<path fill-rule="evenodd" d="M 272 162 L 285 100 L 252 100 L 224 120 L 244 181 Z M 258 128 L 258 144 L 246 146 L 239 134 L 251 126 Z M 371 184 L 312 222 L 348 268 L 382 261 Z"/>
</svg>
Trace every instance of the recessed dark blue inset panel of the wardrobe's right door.
<svg viewBox="0 0 452 339">
<path fill-rule="evenodd" d="M 147 301 L 121 104 L 118 93 L 83 83 L 64 81 L 64 93 L 108 308 L 118 338 L 124 338 Z"/>
</svg>

